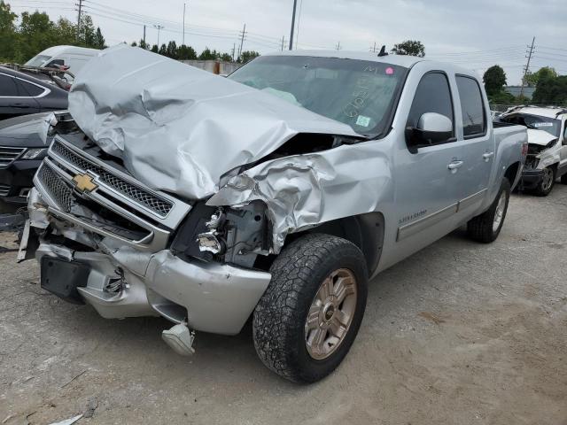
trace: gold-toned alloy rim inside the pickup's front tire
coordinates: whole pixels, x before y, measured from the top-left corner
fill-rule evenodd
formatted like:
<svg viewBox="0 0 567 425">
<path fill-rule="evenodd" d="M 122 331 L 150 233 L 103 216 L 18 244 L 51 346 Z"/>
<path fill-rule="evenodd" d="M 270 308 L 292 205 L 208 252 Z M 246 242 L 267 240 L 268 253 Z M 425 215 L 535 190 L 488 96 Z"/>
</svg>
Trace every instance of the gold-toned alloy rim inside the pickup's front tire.
<svg viewBox="0 0 567 425">
<path fill-rule="evenodd" d="M 313 359 L 327 359 L 345 340 L 356 297 L 356 278 L 346 268 L 335 270 L 322 281 L 305 322 L 307 352 Z"/>
</svg>

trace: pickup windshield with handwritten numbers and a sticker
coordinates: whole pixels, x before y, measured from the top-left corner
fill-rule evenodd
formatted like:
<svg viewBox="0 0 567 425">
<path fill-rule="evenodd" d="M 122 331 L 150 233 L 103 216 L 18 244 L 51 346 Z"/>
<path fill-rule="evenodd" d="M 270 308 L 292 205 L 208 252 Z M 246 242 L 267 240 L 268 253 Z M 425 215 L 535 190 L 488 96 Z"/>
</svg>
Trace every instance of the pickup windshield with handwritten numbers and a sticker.
<svg viewBox="0 0 567 425">
<path fill-rule="evenodd" d="M 384 133 L 407 72 L 402 66 L 364 60 L 265 56 L 229 79 L 371 136 Z"/>
</svg>

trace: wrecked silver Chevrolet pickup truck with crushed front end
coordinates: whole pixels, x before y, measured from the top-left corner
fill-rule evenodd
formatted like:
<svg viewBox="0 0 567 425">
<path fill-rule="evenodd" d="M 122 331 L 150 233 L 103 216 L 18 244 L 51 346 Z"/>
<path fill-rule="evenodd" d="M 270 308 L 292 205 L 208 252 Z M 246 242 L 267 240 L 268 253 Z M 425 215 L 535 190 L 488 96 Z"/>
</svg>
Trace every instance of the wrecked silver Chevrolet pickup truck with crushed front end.
<svg viewBox="0 0 567 425">
<path fill-rule="evenodd" d="M 478 76 L 423 58 L 262 56 L 222 78 L 104 50 L 50 133 L 19 258 L 105 318 L 195 331 L 249 319 L 262 362 L 315 382 L 345 358 L 369 279 L 467 225 L 500 233 L 526 129 L 493 128 Z"/>
</svg>

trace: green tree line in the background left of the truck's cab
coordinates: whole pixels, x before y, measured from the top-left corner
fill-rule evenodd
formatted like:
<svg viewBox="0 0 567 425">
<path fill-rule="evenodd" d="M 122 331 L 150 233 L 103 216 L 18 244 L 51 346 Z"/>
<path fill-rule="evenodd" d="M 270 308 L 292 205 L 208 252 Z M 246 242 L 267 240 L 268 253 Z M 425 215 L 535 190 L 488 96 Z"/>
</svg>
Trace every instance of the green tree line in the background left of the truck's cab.
<svg viewBox="0 0 567 425">
<path fill-rule="evenodd" d="M 106 42 L 99 27 L 95 27 L 88 14 L 82 14 L 81 22 L 77 24 L 69 19 L 59 18 L 57 21 L 50 20 L 46 12 L 22 12 L 18 15 L 12 12 L 10 4 L 0 0 L 0 62 L 15 62 L 23 64 L 33 58 L 40 51 L 51 46 L 72 45 L 89 47 L 92 49 L 105 49 Z M 167 56 L 176 60 L 190 59 L 214 59 L 233 61 L 233 56 L 208 47 L 199 54 L 188 45 L 178 46 L 174 41 L 158 46 L 152 46 L 140 42 L 132 42 L 132 46 L 138 46 L 151 50 L 159 55 Z M 245 63 L 260 56 L 254 50 L 245 50 L 236 62 Z"/>
</svg>

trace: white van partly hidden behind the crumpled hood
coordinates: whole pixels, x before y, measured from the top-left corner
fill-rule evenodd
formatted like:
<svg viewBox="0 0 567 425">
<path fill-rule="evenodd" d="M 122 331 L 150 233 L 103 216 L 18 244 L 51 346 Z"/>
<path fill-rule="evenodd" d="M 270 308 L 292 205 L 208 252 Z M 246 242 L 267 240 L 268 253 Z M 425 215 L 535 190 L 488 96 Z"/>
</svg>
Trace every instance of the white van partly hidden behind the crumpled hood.
<svg viewBox="0 0 567 425">
<path fill-rule="evenodd" d="M 78 73 L 90 58 L 97 56 L 99 52 L 100 50 L 86 47 L 53 46 L 29 59 L 25 65 L 40 68 L 63 67 L 66 71 Z"/>
</svg>

